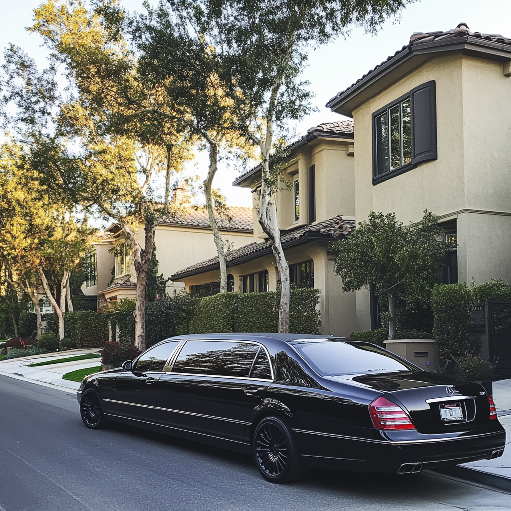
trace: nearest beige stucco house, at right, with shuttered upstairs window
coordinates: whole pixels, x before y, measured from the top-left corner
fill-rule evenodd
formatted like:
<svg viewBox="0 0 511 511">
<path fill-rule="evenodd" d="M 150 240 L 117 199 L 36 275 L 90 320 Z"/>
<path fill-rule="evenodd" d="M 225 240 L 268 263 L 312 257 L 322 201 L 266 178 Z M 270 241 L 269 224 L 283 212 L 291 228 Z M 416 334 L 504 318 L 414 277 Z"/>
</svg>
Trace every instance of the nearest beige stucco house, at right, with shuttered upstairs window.
<svg viewBox="0 0 511 511">
<path fill-rule="evenodd" d="M 445 282 L 511 282 L 511 39 L 465 24 L 415 33 L 327 106 L 353 117 L 357 222 L 427 208 L 457 240 Z M 370 301 L 357 292 L 357 330 Z"/>
</svg>

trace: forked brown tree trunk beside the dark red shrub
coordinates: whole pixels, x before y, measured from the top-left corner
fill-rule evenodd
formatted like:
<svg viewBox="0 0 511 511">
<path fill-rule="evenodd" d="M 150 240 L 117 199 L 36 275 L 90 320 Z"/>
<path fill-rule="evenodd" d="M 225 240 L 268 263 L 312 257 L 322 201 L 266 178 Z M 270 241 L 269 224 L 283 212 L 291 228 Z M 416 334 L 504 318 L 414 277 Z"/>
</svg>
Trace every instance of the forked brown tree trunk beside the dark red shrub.
<svg viewBox="0 0 511 511">
<path fill-rule="evenodd" d="M 136 302 L 133 317 L 135 319 L 135 346 L 140 351 L 146 350 L 146 281 L 147 268 L 151 262 L 154 247 L 154 234 L 157 222 L 146 221 L 145 246 L 142 248 L 135 240 L 134 234 L 128 226 L 123 229 L 133 245 L 133 266 L 136 272 Z"/>
</svg>

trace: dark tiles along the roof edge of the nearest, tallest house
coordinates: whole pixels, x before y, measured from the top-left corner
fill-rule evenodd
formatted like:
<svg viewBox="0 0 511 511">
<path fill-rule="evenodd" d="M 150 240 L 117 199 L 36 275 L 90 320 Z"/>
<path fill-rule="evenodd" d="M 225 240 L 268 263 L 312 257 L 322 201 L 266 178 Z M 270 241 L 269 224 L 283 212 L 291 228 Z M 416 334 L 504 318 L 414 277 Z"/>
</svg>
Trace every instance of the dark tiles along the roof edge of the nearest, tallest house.
<svg viewBox="0 0 511 511">
<path fill-rule="evenodd" d="M 405 45 L 401 50 L 398 50 L 394 55 L 390 55 L 386 58 L 383 62 L 378 64 L 373 69 L 369 69 L 369 71 L 359 78 L 355 83 L 352 83 L 349 87 L 345 88 L 344 90 L 341 90 L 338 92 L 333 98 L 331 98 L 328 103 L 327 107 L 331 107 L 335 101 L 345 94 L 345 92 L 349 91 L 353 87 L 355 87 L 358 83 L 360 83 L 362 80 L 367 78 L 369 75 L 375 73 L 378 71 L 378 69 L 382 66 L 384 66 L 387 62 L 390 62 L 394 59 L 398 59 L 398 56 L 400 56 L 403 52 L 411 53 L 414 50 L 419 50 L 420 47 L 424 47 L 426 45 L 431 44 L 432 42 L 440 42 L 440 41 L 447 41 L 450 39 L 462 39 L 466 37 L 471 37 L 474 39 L 474 42 L 477 42 L 477 40 L 481 41 L 489 41 L 497 44 L 503 44 L 511 47 L 511 39 L 508 37 L 503 37 L 500 34 L 481 34 L 480 32 L 470 32 L 469 27 L 464 24 L 460 23 L 455 29 L 448 30 L 447 32 L 428 32 L 423 34 L 422 32 L 414 33 L 410 37 L 410 41 L 407 45 Z M 453 41 L 454 42 L 454 41 Z"/>
</svg>

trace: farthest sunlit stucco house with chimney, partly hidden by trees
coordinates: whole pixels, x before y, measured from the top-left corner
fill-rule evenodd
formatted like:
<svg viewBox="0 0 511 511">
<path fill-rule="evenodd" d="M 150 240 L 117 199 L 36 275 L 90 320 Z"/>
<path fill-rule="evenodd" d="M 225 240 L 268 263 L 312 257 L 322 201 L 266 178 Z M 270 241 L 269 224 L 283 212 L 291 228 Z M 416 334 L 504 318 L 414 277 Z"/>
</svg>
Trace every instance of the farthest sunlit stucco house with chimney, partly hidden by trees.
<svg viewBox="0 0 511 511">
<path fill-rule="evenodd" d="M 183 188 L 178 188 L 174 200 L 187 204 L 191 198 Z M 228 217 L 220 217 L 217 221 L 220 234 L 229 246 L 236 249 L 252 241 L 250 207 L 231 206 L 228 208 Z M 143 245 L 143 229 L 137 231 L 136 237 Z M 123 250 L 123 239 L 125 236 L 122 228 L 113 224 L 102 233 L 102 237 L 95 244 L 95 260 L 91 267 L 96 271 L 91 272 L 82 285 L 82 291 L 85 298 L 96 300 L 97 297 L 98 308 L 111 301 L 136 297 L 131 250 L 129 247 Z M 207 213 L 193 207 L 185 208 L 183 214 L 162 220 L 156 227 L 155 245 L 158 273 L 162 273 L 166 279 L 183 266 L 211 258 L 217 253 Z M 172 294 L 183 288 L 181 283 L 168 281 L 166 290 Z"/>
</svg>

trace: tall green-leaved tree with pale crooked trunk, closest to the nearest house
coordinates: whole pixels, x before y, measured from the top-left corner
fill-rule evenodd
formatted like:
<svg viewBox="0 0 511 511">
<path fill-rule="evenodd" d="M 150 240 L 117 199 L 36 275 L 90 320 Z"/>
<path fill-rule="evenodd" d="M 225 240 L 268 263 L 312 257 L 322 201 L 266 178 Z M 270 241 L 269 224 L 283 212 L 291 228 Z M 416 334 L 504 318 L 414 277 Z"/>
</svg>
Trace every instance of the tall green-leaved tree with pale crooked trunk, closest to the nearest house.
<svg viewBox="0 0 511 511">
<path fill-rule="evenodd" d="M 275 141 L 289 122 L 310 111 L 311 92 L 300 80 L 308 51 L 353 25 L 376 31 L 408 0 L 174 0 L 221 60 L 220 80 L 233 101 L 238 129 L 259 148 L 262 180 L 259 223 L 271 241 L 281 282 L 278 331 L 289 332 L 289 267 L 276 210 L 280 165 L 271 165 Z M 165 3 L 161 3 L 165 5 Z M 278 144 L 277 144 L 278 145 Z"/>
</svg>

